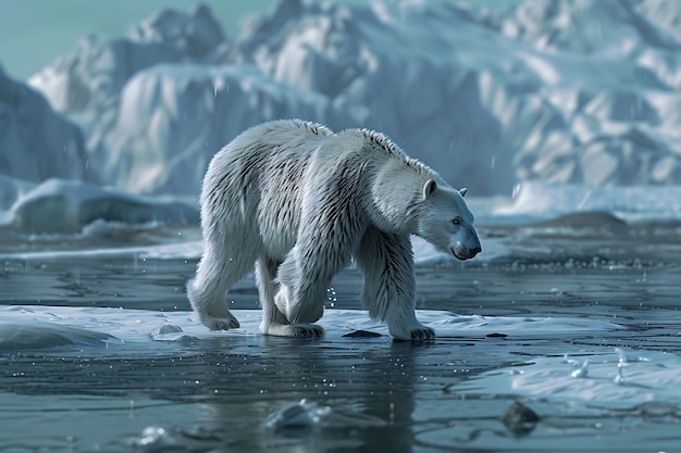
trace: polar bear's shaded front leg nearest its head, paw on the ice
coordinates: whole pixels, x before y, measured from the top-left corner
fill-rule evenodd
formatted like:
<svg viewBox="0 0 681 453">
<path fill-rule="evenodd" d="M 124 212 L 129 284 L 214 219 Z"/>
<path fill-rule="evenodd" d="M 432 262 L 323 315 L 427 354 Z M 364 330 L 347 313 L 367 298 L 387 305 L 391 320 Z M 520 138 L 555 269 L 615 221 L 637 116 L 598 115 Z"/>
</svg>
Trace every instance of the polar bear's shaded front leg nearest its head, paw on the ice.
<svg viewBox="0 0 681 453">
<path fill-rule="evenodd" d="M 393 338 L 428 340 L 435 337 L 416 317 L 416 276 L 408 236 L 369 228 L 357 252 L 364 274 L 362 304 L 372 318 L 385 320 Z"/>
</svg>

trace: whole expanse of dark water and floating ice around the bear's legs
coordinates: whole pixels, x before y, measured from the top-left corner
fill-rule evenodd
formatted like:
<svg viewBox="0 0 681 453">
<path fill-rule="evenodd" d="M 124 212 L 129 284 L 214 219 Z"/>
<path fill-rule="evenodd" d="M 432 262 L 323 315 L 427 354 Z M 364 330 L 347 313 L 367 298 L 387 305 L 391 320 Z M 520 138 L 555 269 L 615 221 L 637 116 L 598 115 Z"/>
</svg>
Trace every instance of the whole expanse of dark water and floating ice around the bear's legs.
<svg viewBox="0 0 681 453">
<path fill-rule="evenodd" d="M 197 243 L 54 254 L 32 252 L 34 238 L 2 256 L 0 445 L 673 451 L 678 227 L 560 222 L 483 227 L 486 260 L 420 265 L 419 316 L 438 334 L 423 343 L 367 318 L 351 268 L 329 291 L 322 339 L 260 336 L 252 278 L 227 297 L 242 329 L 209 332 L 183 292 Z M 344 337 L 358 330 L 380 336 Z"/>
</svg>

